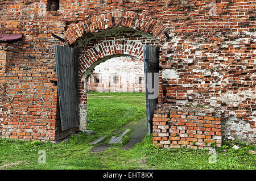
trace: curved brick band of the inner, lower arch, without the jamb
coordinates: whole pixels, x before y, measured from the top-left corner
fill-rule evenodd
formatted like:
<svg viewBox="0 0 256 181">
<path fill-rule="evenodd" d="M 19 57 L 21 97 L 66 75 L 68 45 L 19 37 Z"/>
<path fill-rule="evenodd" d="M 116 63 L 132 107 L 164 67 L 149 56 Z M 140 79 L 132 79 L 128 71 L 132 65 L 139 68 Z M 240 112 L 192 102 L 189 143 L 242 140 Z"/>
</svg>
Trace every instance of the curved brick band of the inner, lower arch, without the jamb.
<svg viewBox="0 0 256 181">
<path fill-rule="evenodd" d="M 143 45 L 131 40 L 109 40 L 94 45 L 79 57 L 79 77 L 97 61 L 115 55 L 133 56 L 143 61 Z"/>
</svg>

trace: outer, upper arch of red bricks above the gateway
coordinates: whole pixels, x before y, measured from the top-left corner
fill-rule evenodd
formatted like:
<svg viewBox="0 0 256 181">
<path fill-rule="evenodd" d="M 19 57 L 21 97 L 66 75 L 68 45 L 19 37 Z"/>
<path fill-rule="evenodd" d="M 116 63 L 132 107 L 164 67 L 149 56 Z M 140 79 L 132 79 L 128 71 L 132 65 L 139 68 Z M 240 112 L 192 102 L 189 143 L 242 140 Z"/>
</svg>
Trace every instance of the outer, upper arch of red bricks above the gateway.
<svg viewBox="0 0 256 181">
<path fill-rule="evenodd" d="M 75 43 L 82 36 L 90 35 L 91 33 L 108 30 L 113 27 L 129 27 L 134 30 L 148 33 L 160 43 L 166 41 L 167 37 L 164 31 L 169 32 L 169 28 L 150 16 L 138 14 L 136 12 L 109 12 L 108 14 L 95 15 L 77 24 L 68 27 L 64 32 L 64 39 L 69 44 Z"/>
</svg>

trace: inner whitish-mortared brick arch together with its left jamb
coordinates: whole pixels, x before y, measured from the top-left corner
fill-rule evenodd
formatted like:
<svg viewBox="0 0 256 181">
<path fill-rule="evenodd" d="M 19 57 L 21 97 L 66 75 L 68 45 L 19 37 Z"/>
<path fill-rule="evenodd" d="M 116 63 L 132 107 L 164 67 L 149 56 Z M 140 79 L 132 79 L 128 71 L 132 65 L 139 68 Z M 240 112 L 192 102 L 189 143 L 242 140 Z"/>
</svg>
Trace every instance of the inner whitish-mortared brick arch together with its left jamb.
<svg viewBox="0 0 256 181">
<path fill-rule="evenodd" d="M 79 57 L 79 124 L 80 130 L 86 129 L 87 94 L 86 75 L 92 73 L 93 68 L 112 57 L 132 56 L 143 61 L 143 45 L 136 41 L 104 41 L 86 50 Z M 85 75 L 86 74 L 86 75 Z"/>
</svg>

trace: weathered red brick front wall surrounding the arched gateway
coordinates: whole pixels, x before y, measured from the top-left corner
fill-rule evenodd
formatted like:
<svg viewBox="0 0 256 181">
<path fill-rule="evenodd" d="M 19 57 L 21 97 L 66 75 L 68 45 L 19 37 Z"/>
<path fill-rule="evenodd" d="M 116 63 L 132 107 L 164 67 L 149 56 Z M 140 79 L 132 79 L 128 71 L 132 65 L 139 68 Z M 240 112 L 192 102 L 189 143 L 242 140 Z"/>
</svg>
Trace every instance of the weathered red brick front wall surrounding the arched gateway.
<svg viewBox="0 0 256 181">
<path fill-rule="evenodd" d="M 142 44 L 154 42 L 160 47 L 159 103 L 221 111 L 222 137 L 255 142 L 255 5 L 255 0 L 70 0 L 49 11 L 47 0 L 1 1 L 0 33 L 23 33 L 20 41 L 0 43 L 5 87 L 0 99 L 7 96 L 6 107 L 0 103 L 2 137 L 61 137 L 53 45 L 80 48 L 80 129 L 85 129 L 86 70 L 102 58 L 138 57 Z"/>
</svg>

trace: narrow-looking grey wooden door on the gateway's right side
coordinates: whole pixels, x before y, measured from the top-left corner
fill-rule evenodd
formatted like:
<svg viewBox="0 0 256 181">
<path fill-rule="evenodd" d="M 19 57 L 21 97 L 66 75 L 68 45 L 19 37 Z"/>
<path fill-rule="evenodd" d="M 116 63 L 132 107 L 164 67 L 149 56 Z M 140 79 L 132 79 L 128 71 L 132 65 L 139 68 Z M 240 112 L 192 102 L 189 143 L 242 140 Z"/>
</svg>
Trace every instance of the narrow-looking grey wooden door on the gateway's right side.
<svg viewBox="0 0 256 181">
<path fill-rule="evenodd" d="M 144 76 L 146 85 L 147 132 L 152 133 L 152 119 L 158 103 L 159 47 L 144 45 Z"/>
</svg>

